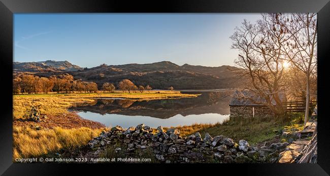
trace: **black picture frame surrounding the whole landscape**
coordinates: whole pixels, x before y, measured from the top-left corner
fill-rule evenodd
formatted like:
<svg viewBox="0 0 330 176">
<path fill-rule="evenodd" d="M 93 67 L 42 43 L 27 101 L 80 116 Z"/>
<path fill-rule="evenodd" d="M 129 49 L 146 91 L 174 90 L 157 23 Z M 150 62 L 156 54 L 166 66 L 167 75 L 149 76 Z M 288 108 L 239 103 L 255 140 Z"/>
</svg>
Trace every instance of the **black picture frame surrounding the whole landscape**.
<svg viewBox="0 0 330 176">
<path fill-rule="evenodd" d="M 327 75 L 330 43 L 329 0 L 230 0 L 230 1 L 79 1 L 79 0 L 0 0 L 0 55 L 2 106 L 0 123 L 0 173 L 3 175 L 49 175 L 87 171 L 105 171 L 114 174 L 120 164 L 21 164 L 12 162 L 12 68 L 13 68 L 13 14 L 14 13 L 260 13 L 260 12 L 318 12 L 318 163 L 317 164 L 134 164 L 120 168 L 122 174 L 144 169 L 171 174 L 177 167 L 188 173 L 195 170 L 213 171 L 213 174 L 246 173 L 252 175 L 328 175 L 330 173 L 329 128 L 326 115 L 328 100 Z M 200 168 L 201 167 L 201 168 Z M 202 168 L 207 167 L 207 168 Z M 148 174 L 157 174 L 150 171 Z M 140 172 L 140 173 L 139 173 Z M 211 173 L 210 173 L 211 174 Z"/>
</svg>

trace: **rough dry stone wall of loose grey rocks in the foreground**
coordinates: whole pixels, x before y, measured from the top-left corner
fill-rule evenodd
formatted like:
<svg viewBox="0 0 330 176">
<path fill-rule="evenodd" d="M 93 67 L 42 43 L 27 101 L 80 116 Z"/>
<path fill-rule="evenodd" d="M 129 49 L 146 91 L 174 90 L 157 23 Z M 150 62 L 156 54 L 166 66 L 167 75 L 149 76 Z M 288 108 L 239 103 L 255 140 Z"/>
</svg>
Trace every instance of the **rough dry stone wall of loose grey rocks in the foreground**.
<svg viewBox="0 0 330 176">
<path fill-rule="evenodd" d="M 152 149 L 155 157 L 164 163 L 247 163 L 247 162 L 275 162 L 278 153 L 272 149 L 258 149 L 252 147 L 246 140 L 236 143 L 233 139 L 222 135 L 212 137 L 208 133 L 204 139 L 199 132 L 187 137 L 181 137 L 177 129 L 164 131 L 157 128 L 157 133 L 140 124 L 126 130 L 119 126 L 109 132 L 103 132 L 88 143 L 88 147 L 95 153 L 107 149 L 107 146 L 118 144 L 126 148 L 117 148 L 116 151 L 126 150 L 126 153 L 136 150 Z M 266 153 L 271 153 L 266 155 Z M 270 157 L 271 156 L 271 157 Z M 272 157 L 274 156 L 274 157 Z"/>
</svg>

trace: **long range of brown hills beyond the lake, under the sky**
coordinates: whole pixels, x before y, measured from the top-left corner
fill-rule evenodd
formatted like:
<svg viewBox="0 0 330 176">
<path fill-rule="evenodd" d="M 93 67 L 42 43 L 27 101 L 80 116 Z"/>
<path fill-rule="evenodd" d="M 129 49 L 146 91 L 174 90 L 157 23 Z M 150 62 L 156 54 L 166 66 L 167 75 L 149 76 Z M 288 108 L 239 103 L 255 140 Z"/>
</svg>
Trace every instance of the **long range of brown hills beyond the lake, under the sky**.
<svg viewBox="0 0 330 176">
<path fill-rule="evenodd" d="M 15 70 L 16 68 L 16 70 Z M 238 68 L 232 66 L 205 67 L 169 61 L 151 64 L 101 65 L 82 69 L 64 61 L 14 63 L 14 71 L 34 72 L 38 76 L 68 73 L 74 79 L 96 82 L 101 89 L 104 82 L 116 86 L 122 79 L 129 79 L 136 85 L 150 85 L 153 89 L 226 89 L 236 88 L 244 83 L 239 78 Z"/>
</svg>

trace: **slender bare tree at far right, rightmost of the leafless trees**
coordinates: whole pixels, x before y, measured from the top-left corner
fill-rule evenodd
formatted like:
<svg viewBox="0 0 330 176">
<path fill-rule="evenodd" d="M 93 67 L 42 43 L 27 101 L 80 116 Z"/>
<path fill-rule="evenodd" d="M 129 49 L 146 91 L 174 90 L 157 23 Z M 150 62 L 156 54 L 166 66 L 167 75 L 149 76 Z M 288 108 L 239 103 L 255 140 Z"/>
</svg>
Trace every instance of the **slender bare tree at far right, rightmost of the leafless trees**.
<svg viewBox="0 0 330 176">
<path fill-rule="evenodd" d="M 291 64 L 301 70 L 306 78 L 305 125 L 309 117 L 311 78 L 317 66 L 317 13 L 284 14 L 283 26 L 289 40 L 283 51 Z"/>
</svg>

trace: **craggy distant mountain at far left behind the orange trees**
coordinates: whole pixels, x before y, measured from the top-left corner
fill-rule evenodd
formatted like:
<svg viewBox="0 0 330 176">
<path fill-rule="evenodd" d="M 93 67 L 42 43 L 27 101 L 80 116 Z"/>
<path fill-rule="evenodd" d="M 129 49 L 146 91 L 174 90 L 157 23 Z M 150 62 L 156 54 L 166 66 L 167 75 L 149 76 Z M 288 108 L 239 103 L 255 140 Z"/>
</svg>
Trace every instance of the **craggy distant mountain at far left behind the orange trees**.
<svg viewBox="0 0 330 176">
<path fill-rule="evenodd" d="M 13 71 L 17 72 L 62 72 L 81 70 L 79 66 L 73 65 L 68 61 L 41 61 L 41 62 L 26 62 L 13 63 Z"/>
</svg>

